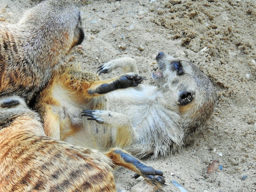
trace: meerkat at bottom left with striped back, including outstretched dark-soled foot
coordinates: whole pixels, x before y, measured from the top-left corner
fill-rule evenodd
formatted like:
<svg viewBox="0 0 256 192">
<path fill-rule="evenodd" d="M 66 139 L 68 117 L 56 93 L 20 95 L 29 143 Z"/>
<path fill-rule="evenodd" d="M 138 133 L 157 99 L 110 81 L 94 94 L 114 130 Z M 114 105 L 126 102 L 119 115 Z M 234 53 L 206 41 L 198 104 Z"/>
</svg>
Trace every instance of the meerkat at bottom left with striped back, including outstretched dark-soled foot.
<svg viewBox="0 0 256 192">
<path fill-rule="evenodd" d="M 114 192 L 113 164 L 164 183 L 162 172 L 122 150 L 104 155 L 47 137 L 38 113 L 23 98 L 0 97 L 1 191 Z"/>
</svg>

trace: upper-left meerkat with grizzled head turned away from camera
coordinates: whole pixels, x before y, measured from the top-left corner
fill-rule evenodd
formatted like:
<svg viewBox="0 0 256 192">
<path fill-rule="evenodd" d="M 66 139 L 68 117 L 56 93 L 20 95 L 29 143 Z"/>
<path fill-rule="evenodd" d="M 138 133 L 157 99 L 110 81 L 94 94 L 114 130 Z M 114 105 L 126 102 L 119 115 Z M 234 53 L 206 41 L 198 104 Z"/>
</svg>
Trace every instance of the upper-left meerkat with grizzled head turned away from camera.
<svg viewBox="0 0 256 192">
<path fill-rule="evenodd" d="M 29 103 L 83 38 L 79 9 L 58 0 L 28 9 L 16 24 L 0 22 L 0 96 Z"/>
</svg>

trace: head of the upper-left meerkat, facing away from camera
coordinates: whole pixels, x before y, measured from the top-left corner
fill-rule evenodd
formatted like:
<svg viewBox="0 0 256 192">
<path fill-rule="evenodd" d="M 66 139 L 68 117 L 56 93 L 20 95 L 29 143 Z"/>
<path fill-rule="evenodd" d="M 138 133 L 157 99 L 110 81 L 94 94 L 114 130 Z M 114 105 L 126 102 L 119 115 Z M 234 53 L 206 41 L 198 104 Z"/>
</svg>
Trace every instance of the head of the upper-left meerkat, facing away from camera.
<svg viewBox="0 0 256 192">
<path fill-rule="evenodd" d="M 28 9 L 18 25 L 26 52 L 54 66 L 84 38 L 79 9 L 61 0 L 45 0 Z"/>
</svg>

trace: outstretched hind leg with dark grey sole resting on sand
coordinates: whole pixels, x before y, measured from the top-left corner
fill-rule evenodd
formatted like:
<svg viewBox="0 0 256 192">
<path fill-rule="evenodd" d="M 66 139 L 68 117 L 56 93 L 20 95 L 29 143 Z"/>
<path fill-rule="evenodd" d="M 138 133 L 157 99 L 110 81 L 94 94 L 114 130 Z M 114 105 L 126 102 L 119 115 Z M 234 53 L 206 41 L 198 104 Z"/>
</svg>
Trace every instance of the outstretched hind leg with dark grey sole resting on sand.
<svg viewBox="0 0 256 192">
<path fill-rule="evenodd" d="M 112 159 L 115 165 L 128 168 L 129 170 L 132 170 L 143 176 L 147 181 L 150 181 L 151 183 L 158 185 L 163 185 L 165 183 L 162 171 L 155 170 L 153 167 L 144 165 L 134 156 L 131 156 L 123 150 L 112 149 L 105 154 L 110 159 Z"/>
</svg>

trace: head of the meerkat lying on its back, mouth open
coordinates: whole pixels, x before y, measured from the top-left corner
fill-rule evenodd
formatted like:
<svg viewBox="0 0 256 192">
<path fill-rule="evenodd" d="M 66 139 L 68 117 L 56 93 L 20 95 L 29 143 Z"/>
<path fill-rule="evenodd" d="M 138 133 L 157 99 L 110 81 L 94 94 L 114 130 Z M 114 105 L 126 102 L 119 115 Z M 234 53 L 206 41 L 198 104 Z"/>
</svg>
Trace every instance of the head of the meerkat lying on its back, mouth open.
<svg viewBox="0 0 256 192">
<path fill-rule="evenodd" d="M 184 129 L 203 126 L 213 112 L 216 91 L 207 76 L 195 65 L 162 52 L 156 56 L 159 69 L 153 80 L 163 90 L 176 96 Z M 168 95 L 168 94 L 167 94 Z"/>
</svg>

